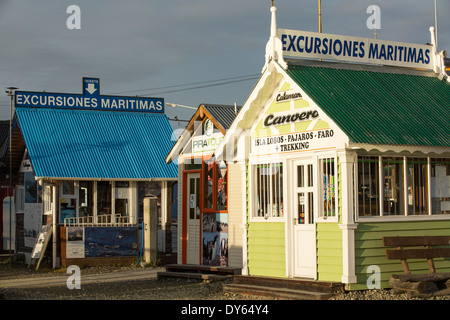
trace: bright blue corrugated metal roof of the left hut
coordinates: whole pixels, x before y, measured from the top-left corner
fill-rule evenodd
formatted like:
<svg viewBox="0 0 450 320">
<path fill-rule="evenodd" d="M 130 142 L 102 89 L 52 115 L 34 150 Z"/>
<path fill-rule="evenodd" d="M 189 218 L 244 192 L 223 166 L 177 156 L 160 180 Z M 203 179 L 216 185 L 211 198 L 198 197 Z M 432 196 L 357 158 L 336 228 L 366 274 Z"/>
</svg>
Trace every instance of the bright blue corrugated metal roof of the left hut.
<svg viewBox="0 0 450 320">
<path fill-rule="evenodd" d="M 17 108 L 37 177 L 176 178 L 165 114 Z"/>
</svg>

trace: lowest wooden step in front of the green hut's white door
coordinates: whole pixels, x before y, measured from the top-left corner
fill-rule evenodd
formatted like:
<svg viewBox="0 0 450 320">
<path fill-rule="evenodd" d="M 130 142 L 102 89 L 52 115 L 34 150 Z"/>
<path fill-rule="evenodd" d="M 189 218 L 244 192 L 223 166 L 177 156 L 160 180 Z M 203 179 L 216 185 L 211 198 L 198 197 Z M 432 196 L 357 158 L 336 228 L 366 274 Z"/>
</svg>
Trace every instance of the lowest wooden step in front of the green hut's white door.
<svg viewBox="0 0 450 320">
<path fill-rule="evenodd" d="M 234 283 L 224 284 L 223 291 L 235 294 L 266 296 L 289 300 L 328 300 L 335 295 L 335 293 L 314 292 L 288 288 L 273 288 L 267 286 Z"/>
</svg>

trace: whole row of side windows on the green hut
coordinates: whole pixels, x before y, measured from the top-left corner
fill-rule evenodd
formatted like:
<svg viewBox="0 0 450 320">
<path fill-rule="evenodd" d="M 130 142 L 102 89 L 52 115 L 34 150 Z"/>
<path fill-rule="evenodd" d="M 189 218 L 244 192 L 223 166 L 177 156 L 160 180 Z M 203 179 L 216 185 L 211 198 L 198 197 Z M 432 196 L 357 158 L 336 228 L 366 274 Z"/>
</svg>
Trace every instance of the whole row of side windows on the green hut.
<svg viewBox="0 0 450 320">
<path fill-rule="evenodd" d="M 450 159 L 359 156 L 357 183 L 359 217 L 450 214 Z"/>
</svg>

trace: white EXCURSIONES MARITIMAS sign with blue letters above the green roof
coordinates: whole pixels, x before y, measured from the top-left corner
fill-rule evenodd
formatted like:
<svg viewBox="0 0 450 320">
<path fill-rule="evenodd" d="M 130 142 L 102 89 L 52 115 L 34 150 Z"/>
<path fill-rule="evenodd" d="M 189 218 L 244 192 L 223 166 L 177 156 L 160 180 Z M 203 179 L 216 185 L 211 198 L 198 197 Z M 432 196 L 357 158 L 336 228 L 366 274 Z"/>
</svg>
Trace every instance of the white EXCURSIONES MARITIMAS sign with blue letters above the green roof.
<svg viewBox="0 0 450 320">
<path fill-rule="evenodd" d="M 432 46 L 278 29 L 285 57 L 433 69 Z"/>
</svg>

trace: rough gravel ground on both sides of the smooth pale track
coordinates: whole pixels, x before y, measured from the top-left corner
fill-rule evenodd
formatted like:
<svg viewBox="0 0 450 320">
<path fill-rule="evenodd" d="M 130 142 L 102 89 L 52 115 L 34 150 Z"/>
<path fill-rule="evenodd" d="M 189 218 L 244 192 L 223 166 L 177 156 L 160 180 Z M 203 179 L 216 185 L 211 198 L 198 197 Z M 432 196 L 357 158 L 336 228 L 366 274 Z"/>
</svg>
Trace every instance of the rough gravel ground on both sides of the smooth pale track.
<svg viewBox="0 0 450 320">
<path fill-rule="evenodd" d="M 82 268 L 81 275 L 132 271 L 128 267 Z M 161 268 L 161 270 L 164 270 Z M 0 262 L 0 279 L 27 277 L 67 277 L 65 269 L 41 267 L 38 271 L 24 265 L 11 266 Z M 229 280 L 227 280 L 229 281 Z M 86 283 L 81 289 L 69 290 L 65 286 L 39 288 L 0 289 L 0 300 L 273 300 L 268 297 L 246 296 L 223 292 L 223 281 L 198 281 L 186 279 L 133 280 L 111 283 Z M 331 300 L 450 300 L 450 296 L 411 297 L 409 294 L 392 294 L 390 290 L 345 292 Z"/>
</svg>

